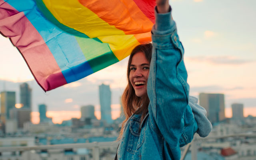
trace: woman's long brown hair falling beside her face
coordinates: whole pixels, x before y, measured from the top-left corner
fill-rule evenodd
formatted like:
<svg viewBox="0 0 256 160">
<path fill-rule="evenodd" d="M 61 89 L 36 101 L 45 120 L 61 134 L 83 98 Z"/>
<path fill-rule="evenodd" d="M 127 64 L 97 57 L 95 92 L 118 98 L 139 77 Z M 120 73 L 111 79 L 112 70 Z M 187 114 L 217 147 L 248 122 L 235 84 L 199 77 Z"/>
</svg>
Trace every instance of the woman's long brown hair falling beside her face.
<svg viewBox="0 0 256 160">
<path fill-rule="evenodd" d="M 141 116 L 141 121 L 142 121 L 148 112 L 148 104 L 149 104 L 148 94 L 145 94 L 142 97 L 136 96 L 135 90 L 132 87 L 132 84 L 129 79 L 130 64 L 132 62 L 132 57 L 134 56 L 134 54 L 136 54 L 138 52 L 144 53 L 146 60 L 148 60 L 148 62 L 150 62 L 151 56 L 152 56 L 152 44 L 151 43 L 140 44 L 140 45 L 136 46 L 130 54 L 130 58 L 128 60 L 128 67 L 127 67 L 128 84 L 122 94 L 122 106 L 124 109 L 125 120 L 122 122 L 122 128 L 120 130 L 118 140 L 120 140 L 122 138 L 122 135 L 124 132 L 124 125 L 126 124 L 129 117 L 132 116 L 133 113 L 142 114 L 142 116 Z M 147 84 L 145 84 L 145 85 L 147 85 Z"/>
</svg>

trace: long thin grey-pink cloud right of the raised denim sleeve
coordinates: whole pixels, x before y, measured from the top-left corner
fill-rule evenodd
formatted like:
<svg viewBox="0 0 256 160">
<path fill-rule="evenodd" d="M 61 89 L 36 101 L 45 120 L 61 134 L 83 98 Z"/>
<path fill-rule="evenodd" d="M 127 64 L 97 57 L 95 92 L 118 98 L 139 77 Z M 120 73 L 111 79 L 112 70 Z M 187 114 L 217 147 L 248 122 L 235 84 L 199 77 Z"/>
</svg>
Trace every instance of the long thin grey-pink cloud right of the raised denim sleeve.
<svg viewBox="0 0 256 160">
<path fill-rule="evenodd" d="M 232 64 L 240 65 L 253 62 L 252 60 L 244 60 L 236 56 L 196 56 L 196 57 L 187 57 L 187 60 L 194 62 L 209 62 L 212 64 Z"/>
</svg>

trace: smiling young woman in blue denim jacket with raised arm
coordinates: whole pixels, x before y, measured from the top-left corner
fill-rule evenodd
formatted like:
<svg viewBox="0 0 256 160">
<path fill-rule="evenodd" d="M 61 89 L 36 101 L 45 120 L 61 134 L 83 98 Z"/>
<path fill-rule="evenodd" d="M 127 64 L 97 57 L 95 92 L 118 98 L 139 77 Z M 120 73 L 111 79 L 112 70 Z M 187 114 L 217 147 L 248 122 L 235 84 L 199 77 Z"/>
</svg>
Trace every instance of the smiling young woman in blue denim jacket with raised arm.
<svg viewBox="0 0 256 160">
<path fill-rule="evenodd" d="M 134 48 L 128 62 L 118 160 L 179 160 L 180 146 L 195 132 L 205 137 L 212 129 L 206 111 L 189 96 L 184 49 L 168 0 L 156 4 L 152 44 Z"/>
</svg>

